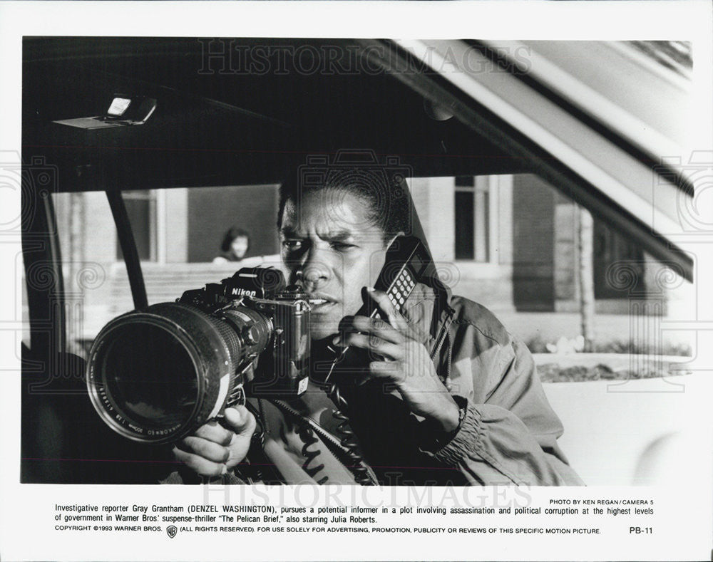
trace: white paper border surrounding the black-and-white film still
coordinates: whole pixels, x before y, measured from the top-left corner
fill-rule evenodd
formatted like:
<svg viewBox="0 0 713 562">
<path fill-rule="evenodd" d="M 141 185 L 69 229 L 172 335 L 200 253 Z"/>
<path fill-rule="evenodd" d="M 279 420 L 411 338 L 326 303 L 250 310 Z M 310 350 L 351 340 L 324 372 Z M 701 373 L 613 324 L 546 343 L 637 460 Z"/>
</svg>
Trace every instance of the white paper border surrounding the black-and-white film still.
<svg viewBox="0 0 713 562">
<path fill-rule="evenodd" d="M 694 41 L 694 87 L 699 100 L 702 127 L 694 148 L 713 147 L 711 123 L 712 38 L 710 4 L 706 1 L 453 1 L 453 2 L 15 2 L 0 3 L 0 153 L 20 152 L 21 38 L 26 35 L 91 36 L 250 36 L 250 37 L 386 37 L 386 38 L 493 38 L 493 39 L 683 39 Z M 19 209 L 19 193 L 2 194 L 3 209 Z M 14 206 L 14 207 L 13 207 Z M 19 212 L 18 212 L 19 216 Z M 413 559 L 413 558 L 506 558 L 506 559 L 709 559 L 711 547 L 710 482 L 689 479 L 689 467 L 699 459 L 682 459 L 678 486 L 660 492 L 672 506 L 667 516 L 674 537 L 660 534 L 649 541 L 605 541 L 563 538 L 555 543 L 516 540 L 476 541 L 426 537 L 402 541 L 399 536 L 357 540 L 354 536 L 308 540 L 286 536 L 282 541 L 265 542 L 260 537 L 237 536 L 207 540 L 169 542 L 134 536 L 44 537 L 38 529 L 53 514 L 57 502 L 82 501 L 145 502 L 147 497 L 168 501 L 202 503 L 198 489 L 154 486 L 20 486 L 19 482 L 19 342 L 13 329 L 15 317 L 14 271 L 19 236 L 4 236 L 0 251 L 4 296 L 0 332 L 3 348 L 0 376 L 0 427 L 2 452 L 0 496 L 0 556 L 4 560 L 65 559 Z M 698 256 L 698 283 L 711 287 L 710 240 L 691 251 Z M 10 265 L 11 264 L 11 265 Z M 10 266 L 9 266 L 10 265 Z M 8 267 L 9 266 L 9 267 Z M 713 311 L 713 291 L 699 293 L 699 321 L 712 321 L 705 311 Z M 710 313 L 707 313 L 710 314 Z M 5 322 L 6 319 L 8 322 Z M 19 338 L 18 338 L 19 339 Z M 708 353 L 713 345 L 701 345 Z M 713 360 L 702 357 L 704 368 Z M 15 369 L 13 373 L 7 369 Z M 709 420 L 701 420 L 709 424 Z M 702 459 L 710 457 L 710 443 L 702 443 Z M 709 475 L 710 476 L 710 475 Z M 597 490 L 621 493 L 622 490 Z M 299 491 L 294 491 L 299 493 Z M 652 491 L 653 492 L 653 491 Z M 277 493 L 272 491 L 271 493 Z M 288 493 L 281 492 L 281 493 Z M 548 494 L 550 491 L 534 491 Z M 578 491 L 560 489 L 561 496 Z M 637 493 L 640 493 L 638 491 Z M 220 501 L 220 497 L 210 498 Z M 160 503 L 160 501 L 156 501 Z M 663 508 L 662 508 L 663 509 Z M 666 539 L 665 541 L 663 539 Z M 411 548 L 409 548 L 409 544 Z M 358 545 L 358 548 L 355 548 Z"/>
</svg>

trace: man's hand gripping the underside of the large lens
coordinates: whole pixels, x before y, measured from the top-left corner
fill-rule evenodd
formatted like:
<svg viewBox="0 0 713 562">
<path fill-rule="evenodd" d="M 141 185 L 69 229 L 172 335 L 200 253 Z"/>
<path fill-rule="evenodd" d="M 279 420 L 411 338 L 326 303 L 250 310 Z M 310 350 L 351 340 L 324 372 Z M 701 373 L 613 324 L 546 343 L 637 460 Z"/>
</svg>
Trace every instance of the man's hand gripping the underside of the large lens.
<svg viewBox="0 0 713 562">
<path fill-rule="evenodd" d="M 226 429 L 212 421 L 173 447 L 173 454 L 186 467 L 203 476 L 220 476 L 234 468 L 250 449 L 255 417 L 245 406 L 225 410 Z"/>
</svg>

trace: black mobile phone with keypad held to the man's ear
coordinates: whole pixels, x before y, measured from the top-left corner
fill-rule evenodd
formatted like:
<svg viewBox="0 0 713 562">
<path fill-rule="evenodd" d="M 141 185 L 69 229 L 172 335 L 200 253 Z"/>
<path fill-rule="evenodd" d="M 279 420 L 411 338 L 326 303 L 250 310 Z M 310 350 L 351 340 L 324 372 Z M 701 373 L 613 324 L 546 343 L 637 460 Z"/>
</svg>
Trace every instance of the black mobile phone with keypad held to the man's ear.
<svg viewBox="0 0 713 562">
<path fill-rule="evenodd" d="M 386 250 L 386 261 L 374 288 L 384 291 L 396 311 L 400 312 L 430 263 L 428 250 L 421 239 L 416 236 L 397 236 Z M 364 303 L 356 316 L 381 318 L 379 308 L 373 301 Z M 326 376 L 320 381 L 322 383 L 329 382 L 332 375 L 339 370 L 339 365 L 349 364 L 346 360 L 350 353 L 349 346 L 337 348 L 328 345 L 327 348 L 334 354 L 334 360 Z"/>
</svg>

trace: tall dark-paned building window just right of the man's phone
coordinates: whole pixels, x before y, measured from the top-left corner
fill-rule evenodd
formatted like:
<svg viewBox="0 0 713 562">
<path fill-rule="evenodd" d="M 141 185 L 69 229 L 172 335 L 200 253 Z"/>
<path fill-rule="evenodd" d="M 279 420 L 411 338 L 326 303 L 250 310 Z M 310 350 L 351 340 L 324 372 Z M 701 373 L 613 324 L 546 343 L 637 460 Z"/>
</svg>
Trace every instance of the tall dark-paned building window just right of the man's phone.
<svg viewBox="0 0 713 562">
<path fill-rule="evenodd" d="M 456 259 L 490 261 L 488 177 L 458 176 L 456 184 Z"/>
</svg>

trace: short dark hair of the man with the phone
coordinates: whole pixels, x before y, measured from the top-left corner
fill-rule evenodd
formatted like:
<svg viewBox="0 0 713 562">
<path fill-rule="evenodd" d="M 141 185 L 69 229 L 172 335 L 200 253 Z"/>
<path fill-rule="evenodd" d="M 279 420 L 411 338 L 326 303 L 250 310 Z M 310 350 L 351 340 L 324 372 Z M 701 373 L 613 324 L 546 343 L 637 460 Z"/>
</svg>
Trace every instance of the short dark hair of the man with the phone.
<svg viewBox="0 0 713 562">
<path fill-rule="evenodd" d="M 361 167 L 338 167 L 330 170 L 323 181 L 305 184 L 290 177 L 279 187 L 277 228 L 282 227 L 282 214 L 287 201 L 299 202 L 304 194 L 326 191 L 344 191 L 358 197 L 368 206 L 367 218 L 384 233 L 384 242 L 404 232 L 411 231 L 411 204 L 406 182 L 389 186 L 379 172 Z"/>
</svg>

